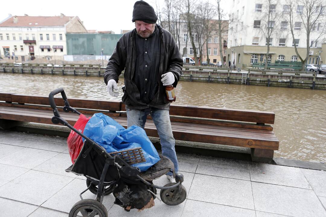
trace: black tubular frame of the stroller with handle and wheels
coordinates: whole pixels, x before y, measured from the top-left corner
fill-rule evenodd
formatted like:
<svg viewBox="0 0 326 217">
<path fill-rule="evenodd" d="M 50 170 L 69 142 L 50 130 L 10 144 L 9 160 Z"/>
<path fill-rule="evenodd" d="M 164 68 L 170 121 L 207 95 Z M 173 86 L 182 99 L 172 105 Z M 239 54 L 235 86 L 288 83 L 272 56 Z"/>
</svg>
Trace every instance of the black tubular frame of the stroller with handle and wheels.
<svg viewBox="0 0 326 217">
<path fill-rule="evenodd" d="M 82 216 L 95 216 L 99 215 L 100 217 L 107 217 L 108 212 L 104 205 L 102 204 L 103 197 L 105 195 L 111 194 L 114 187 L 116 187 L 118 180 L 113 180 L 111 182 L 105 182 L 105 179 L 108 177 L 108 169 L 109 166 L 113 165 L 116 166 L 119 177 L 120 172 L 124 174 L 124 178 L 133 178 L 133 180 L 139 180 L 140 182 L 146 184 L 148 187 L 150 187 L 151 190 L 148 190 L 152 196 L 153 199 L 156 198 L 156 188 L 161 189 L 160 197 L 162 201 L 168 205 L 178 205 L 182 203 L 186 198 L 186 189 L 182 185 L 182 182 L 184 181 L 184 177 L 181 173 L 174 173 L 174 170 L 170 169 L 170 171 L 173 173 L 173 176 L 175 177 L 176 183 L 169 183 L 165 186 L 157 186 L 154 185 L 151 182 L 146 181 L 143 179 L 139 174 L 141 173 L 140 169 L 138 167 L 130 166 L 129 163 L 124 160 L 121 156 L 115 155 L 111 156 L 109 153 L 106 152 L 106 150 L 94 142 L 92 139 L 85 136 L 83 133 L 75 129 L 73 126 L 71 126 L 63 117 L 60 116 L 58 108 L 56 107 L 55 101 L 54 101 L 54 95 L 61 93 L 61 96 L 64 100 L 65 106 L 63 107 L 63 111 L 65 112 L 73 112 L 78 115 L 81 115 L 80 112 L 78 112 L 75 108 L 71 107 L 69 105 L 69 102 L 67 100 L 67 96 L 65 94 L 65 91 L 63 88 L 57 88 L 53 90 L 49 94 L 49 101 L 50 105 L 53 111 L 54 116 L 52 117 L 52 123 L 54 124 L 63 124 L 64 126 L 67 126 L 71 130 L 75 131 L 78 135 L 82 136 L 85 139 L 85 142 L 83 144 L 82 150 L 76 159 L 76 162 L 79 158 L 85 158 L 87 155 L 90 155 L 90 152 L 92 149 L 95 149 L 97 154 L 100 156 L 105 157 L 105 163 L 102 171 L 99 171 L 100 174 L 98 174 L 99 180 L 90 176 L 86 176 L 85 174 L 77 174 L 77 175 L 85 175 L 87 178 L 87 189 L 84 190 L 82 193 L 80 193 L 81 201 L 77 202 L 70 210 L 69 217 L 75 217 L 79 212 L 82 213 Z M 85 150 L 86 149 L 86 150 Z M 66 171 L 71 172 L 71 168 L 73 168 L 74 165 L 71 165 Z M 98 186 L 96 188 L 96 185 Z M 106 186 L 109 186 L 108 188 L 105 188 Z M 85 193 L 87 190 L 90 190 L 93 194 L 96 194 L 96 199 L 83 199 L 82 194 Z"/>
</svg>

